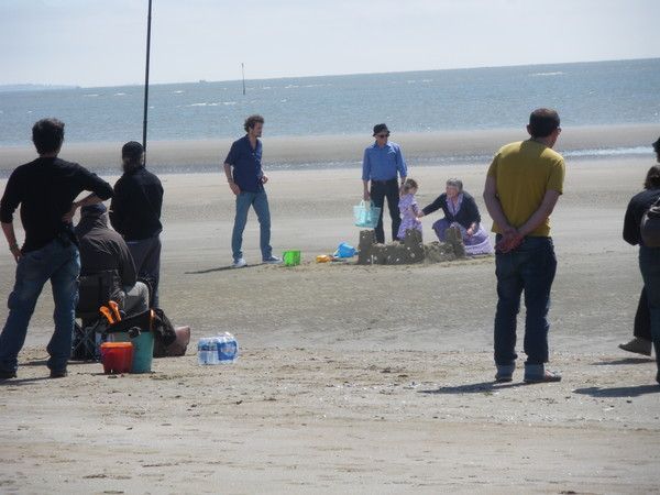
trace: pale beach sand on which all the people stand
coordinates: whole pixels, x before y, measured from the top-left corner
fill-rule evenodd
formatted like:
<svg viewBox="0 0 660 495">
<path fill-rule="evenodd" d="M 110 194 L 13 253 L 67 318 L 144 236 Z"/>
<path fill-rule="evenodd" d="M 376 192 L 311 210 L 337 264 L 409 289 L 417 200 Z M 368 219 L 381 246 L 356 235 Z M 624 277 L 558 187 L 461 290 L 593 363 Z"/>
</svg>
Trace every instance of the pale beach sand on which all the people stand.
<svg viewBox="0 0 660 495">
<path fill-rule="evenodd" d="M 641 288 L 623 213 L 651 163 L 568 164 L 550 312 L 551 367 L 564 380 L 547 385 L 522 385 L 520 371 L 492 382 L 493 258 L 312 263 L 358 242 L 358 169 L 270 174 L 273 245 L 300 249 L 304 264 L 240 271 L 228 270 L 233 199 L 222 176 L 163 176 L 163 308 L 194 342 L 234 333 L 240 360 L 200 367 L 193 344 L 152 374 L 72 363 L 68 378 L 50 381 L 46 288 L 19 378 L 0 383 L 0 492 L 658 492 L 654 362 L 616 348 Z M 488 222 L 486 164 L 410 165 L 421 204 L 461 177 Z M 424 219 L 427 239 L 435 218 Z M 257 245 L 251 213 L 249 262 Z M 9 255 L 0 280 L 6 297 Z"/>
</svg>

